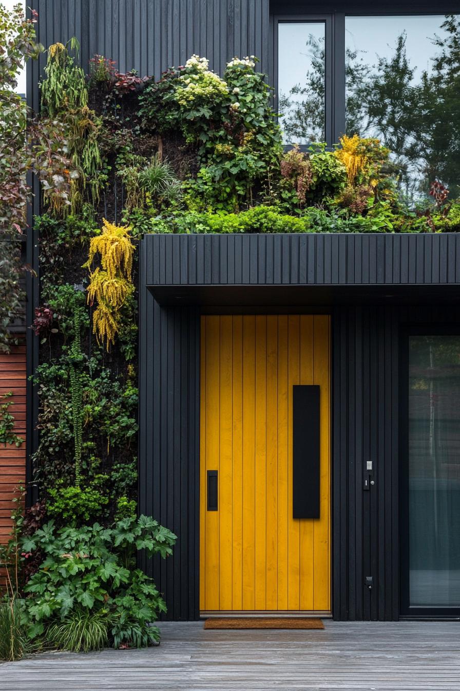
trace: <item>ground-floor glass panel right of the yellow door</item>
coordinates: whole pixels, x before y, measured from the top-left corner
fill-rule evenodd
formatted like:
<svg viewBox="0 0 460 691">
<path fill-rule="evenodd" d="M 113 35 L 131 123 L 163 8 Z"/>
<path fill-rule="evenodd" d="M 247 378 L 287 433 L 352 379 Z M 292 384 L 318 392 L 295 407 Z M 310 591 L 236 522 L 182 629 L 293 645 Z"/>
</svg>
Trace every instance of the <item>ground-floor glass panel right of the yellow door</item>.
<svg viewBox="0 0 460 691">
<path fill-rule="evenodd" d="M 460 336 L 409 347 L 411 607 L 460 605 Z"/>
</svg>

